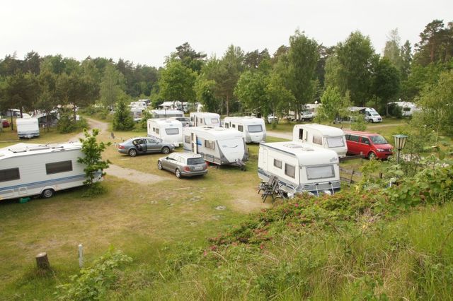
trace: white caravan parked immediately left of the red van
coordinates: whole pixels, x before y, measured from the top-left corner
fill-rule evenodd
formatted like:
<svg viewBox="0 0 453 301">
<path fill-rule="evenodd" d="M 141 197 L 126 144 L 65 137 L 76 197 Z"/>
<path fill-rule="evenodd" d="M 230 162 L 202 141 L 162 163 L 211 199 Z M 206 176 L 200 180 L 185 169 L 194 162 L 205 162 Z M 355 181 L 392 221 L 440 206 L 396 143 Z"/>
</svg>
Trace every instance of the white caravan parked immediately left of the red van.
<svg viewBox="0 0 453 301">
<path fill-rule="evenodd" d="M 292 130 L 292 141 L 306 143 L 316 148 L 327 148 L 343 158 L 348 153 L 345 133 L 334 126 L 323 124 L 297 124 Z"/>
</svg>

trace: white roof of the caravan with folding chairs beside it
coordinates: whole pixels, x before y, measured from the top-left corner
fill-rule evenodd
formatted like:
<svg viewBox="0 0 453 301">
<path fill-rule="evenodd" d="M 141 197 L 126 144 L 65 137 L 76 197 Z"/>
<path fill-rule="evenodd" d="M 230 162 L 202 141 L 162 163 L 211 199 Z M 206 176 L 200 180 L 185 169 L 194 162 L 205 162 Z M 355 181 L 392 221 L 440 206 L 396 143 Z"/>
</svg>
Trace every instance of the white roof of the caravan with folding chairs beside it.
<svg viewBox="0 0 453 301">
<path fill-rule="evenodd" d="M 298 158 L 302 165 L 323 165 L 338 163 L 338 154 L 326 148 L 318 148 L 305 143 L 293 141 L 260 143 L 260 146 L 267 146 Z"/>
</svg>

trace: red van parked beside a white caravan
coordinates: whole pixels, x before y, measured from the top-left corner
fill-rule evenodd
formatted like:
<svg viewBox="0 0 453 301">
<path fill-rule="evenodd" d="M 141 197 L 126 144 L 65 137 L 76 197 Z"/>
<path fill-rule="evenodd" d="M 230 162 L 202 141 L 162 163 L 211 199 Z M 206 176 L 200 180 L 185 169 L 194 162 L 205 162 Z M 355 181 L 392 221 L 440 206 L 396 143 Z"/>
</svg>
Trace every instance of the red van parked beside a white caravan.
<svg viewBox="0 0 453 301">
<path fill-rule="evenodd" d="M 391 146 L 383 136 L 365 131 L 344 131 L 348 153 L 365 157 L 386 159 L 393 154 Z"/>
</svg>

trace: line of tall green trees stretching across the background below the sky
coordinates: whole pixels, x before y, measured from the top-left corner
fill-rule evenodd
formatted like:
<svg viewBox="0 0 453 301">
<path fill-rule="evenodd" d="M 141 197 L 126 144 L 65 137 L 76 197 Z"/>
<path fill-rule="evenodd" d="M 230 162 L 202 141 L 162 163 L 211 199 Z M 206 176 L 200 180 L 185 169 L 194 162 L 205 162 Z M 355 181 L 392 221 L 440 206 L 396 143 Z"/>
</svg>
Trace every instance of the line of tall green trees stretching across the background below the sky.
<svg viewBox="0 0 453 301">
<path fill-rule="evenodd" d="M 57 105 L 95 102 L 112 109 L 122 100 L 150 98 L 154 105 L 198 101 L 204 110 L 226 115 L 297 114 L 315 101 L 383 112 L 388 102 L 418 101 L 440 79 L 448 81 L 452 54 L 453 23 L 442 20 L 428 23 L 415 45 L 401 44 L 398 30 L 392 30 L 383 55 L 360 31 L 326 47 L 299 30 L 273 55 L 230 45 L 222 57 L 208 58 L 185 42 L 161 69 L 123 59 L 40 57 L 32 51 L 24 59 L 13 54 L 0 61 L 0 109 L 48 112 Z"/>
</svg>

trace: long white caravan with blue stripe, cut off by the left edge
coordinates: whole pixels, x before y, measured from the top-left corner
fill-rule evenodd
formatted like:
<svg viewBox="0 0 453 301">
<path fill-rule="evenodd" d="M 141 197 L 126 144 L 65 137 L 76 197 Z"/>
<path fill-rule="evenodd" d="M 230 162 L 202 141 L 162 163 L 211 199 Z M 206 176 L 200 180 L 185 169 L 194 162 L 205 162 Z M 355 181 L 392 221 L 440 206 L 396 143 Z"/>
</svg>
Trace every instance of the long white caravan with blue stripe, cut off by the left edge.
<svg viewBox="0 0 453 301">
<path fill-rule="evenodd" d="M 41 195 L 50 198 L 55 191 L 84 185 L 86 165 L 81 143 L 40 145 L 18 143 L 0 148 L 0 199 Z M 101 172 L 95 182 L 101 181 Z"/>
</svg>

